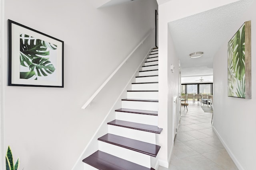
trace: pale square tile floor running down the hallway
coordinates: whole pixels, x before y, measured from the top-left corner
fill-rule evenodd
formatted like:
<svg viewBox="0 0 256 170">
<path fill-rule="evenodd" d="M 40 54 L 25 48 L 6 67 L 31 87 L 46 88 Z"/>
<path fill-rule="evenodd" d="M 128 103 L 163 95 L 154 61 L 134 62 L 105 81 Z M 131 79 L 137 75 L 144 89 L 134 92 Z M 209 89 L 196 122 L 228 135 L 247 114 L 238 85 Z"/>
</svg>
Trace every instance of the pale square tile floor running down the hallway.
<svg viewBox="0 0 256 170">
<path fill-rule="evenodd" d="M 170 166 L 158 170 L 238 170 L 212 130 L 212 113 L 204 112 L 200 102 L 189 102 L 181 115 Z"/>
</svg>

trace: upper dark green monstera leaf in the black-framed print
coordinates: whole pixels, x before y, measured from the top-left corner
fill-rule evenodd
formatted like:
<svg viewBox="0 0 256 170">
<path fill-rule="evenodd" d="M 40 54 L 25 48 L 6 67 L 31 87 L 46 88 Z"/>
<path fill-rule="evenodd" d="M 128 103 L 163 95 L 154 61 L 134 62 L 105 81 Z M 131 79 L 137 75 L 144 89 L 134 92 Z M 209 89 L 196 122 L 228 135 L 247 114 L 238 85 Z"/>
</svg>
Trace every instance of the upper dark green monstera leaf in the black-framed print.
<svg viewBox="0 0 256 170">
<path fill-rule="evenodd" d="M 28 59 L 32 60 L 36 57 L 49 55 L 49 51 L 46 50 L 47 47 L 42 45 L 42 40 L 34 39 L 34 37 L 26 34 L 20 35 L 20 52 Z"/>
</svg>

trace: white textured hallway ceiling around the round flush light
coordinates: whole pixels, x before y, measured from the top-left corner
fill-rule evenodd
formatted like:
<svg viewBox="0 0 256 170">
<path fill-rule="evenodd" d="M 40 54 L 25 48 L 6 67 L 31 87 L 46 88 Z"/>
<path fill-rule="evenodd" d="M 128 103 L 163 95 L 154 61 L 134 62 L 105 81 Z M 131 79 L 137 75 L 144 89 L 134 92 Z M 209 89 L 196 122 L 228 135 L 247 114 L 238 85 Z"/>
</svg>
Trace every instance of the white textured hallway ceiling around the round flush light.
<svg viewBox="0 0 256 170">
<path fill-rule="evenodd" d="M 168 23 L 180 59 L 182 76 L 198 75 L 198 72 L 205 74 L 206 68 L 209 68 L 207 74 L 210 74 L 210 70 L 212 72 L 214 54 L 251 4 L 252 0 L 241 0 Z M 204 56 L 191 59 L 189 54 L 197 51 L 203 51 Z"/>
</svg>

